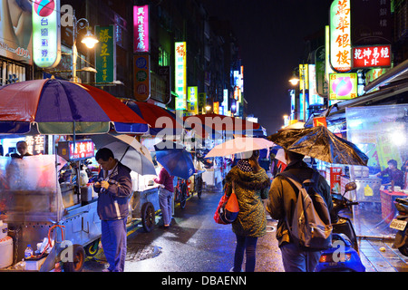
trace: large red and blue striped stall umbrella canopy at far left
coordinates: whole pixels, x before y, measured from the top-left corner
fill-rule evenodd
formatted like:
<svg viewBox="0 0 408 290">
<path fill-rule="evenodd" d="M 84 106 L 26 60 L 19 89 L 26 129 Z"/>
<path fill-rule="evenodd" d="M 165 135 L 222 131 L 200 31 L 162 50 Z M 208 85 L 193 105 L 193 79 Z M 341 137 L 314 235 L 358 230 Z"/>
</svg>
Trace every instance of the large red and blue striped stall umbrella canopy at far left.
<svg viewBox="0 0 408 290">
<path fill-rule="evenodd" d="M 0 133 L 144 133 L 148 124 L 108 92 L 56 79 L 0 87 Z"/>
</svg>

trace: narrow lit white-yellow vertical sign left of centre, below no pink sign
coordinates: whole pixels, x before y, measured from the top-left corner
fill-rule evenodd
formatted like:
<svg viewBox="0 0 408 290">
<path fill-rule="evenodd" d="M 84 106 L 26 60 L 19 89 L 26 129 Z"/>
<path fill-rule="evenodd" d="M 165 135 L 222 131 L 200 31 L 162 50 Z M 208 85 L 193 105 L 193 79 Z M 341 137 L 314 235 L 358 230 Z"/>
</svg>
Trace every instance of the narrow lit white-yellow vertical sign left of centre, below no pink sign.
<svg viewBox="0 0 408 290">
<path fill-rule="evenodd" d="M 187 99 L 187 48 L 185 42 L 175 44 L 176 110 L 186 110 Z"/>
</svg>

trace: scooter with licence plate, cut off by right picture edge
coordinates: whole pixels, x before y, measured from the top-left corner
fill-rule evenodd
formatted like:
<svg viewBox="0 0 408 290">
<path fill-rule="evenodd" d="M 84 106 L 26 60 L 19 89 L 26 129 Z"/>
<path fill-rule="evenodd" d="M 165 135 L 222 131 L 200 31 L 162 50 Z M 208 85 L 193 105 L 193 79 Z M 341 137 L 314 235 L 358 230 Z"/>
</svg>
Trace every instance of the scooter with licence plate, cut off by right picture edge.
<svg viewBox="0 0 408 290">
<path fill-rule="evenodd" d="M 395 198 L 393 204 L 398 210 L 398 216 L 393 218 L 390 224 L 391 228 L 398 230 L 393 240 L 393 247 L 398 248 L 403 256 L 408 256 L 408 227 L 406 227 L 408 223 L 408 198 Z"/>
</svg>

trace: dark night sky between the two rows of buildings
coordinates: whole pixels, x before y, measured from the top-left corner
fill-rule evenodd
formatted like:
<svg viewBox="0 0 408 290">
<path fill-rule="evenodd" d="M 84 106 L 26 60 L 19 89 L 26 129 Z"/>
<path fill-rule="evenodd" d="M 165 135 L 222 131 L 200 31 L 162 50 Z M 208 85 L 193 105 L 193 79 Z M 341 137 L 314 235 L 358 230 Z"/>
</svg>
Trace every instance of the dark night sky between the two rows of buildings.
<svg viewBox="0 0 408 290">
<path fill-rule="evenodd" d="M 201 0 L 209 15 L 229 20 L 244 65 L 244 96 L 267 134 L 290 112 L 288 90 L 302 63 L 305 38 L 328 24 L 332 0 Z M 306 58 L 306 56 L 305 56 Z"/>
</svg>

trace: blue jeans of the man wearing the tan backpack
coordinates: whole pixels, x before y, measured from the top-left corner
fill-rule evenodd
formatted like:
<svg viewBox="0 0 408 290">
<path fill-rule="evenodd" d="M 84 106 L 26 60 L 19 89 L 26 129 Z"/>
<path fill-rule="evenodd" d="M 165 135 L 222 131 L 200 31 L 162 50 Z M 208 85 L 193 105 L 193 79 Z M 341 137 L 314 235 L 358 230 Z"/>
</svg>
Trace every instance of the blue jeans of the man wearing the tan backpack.
<svg viewBox="0 0 408 290">
<path fill-rule="evenodd" d="M 314 272 L 320 251 L 304 251 L 293 243 L 280 247 L 285 272 Z"/>
</svg>

